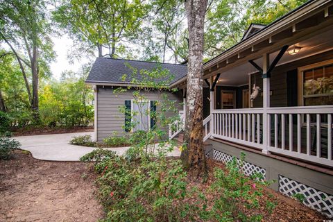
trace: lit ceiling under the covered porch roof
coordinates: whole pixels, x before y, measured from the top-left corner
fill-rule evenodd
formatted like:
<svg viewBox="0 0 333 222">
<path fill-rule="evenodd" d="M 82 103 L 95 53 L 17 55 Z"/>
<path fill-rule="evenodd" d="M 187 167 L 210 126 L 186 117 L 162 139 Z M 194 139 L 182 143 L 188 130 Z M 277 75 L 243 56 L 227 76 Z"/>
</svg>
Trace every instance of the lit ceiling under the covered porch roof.
<svg viewBox="0 0 333 222">
<path fill-rule="evenodd" d="M 313 56 L 318 53 L 322 53 L 324 51 L 333 50 L 333 28 L 329 31 L 325 31 L 324 33 L 318 33 L 313 37 L 310 37 L 307 40 L 302 40 L 293 44 L 293 46 L 300 46 L 300 52 L 296 55 L 289 55 L 288 51 L 284 53 L 281 60 L 278 62 L 278 66 L 285 65 L 289 62 L 293 62 L 296 60 L 300 60 L 302 58 L 306 58 L 308 56 Z M 272 62 L 275 56 L 278 55 L 279 51 L 275 51 L 270 53 L 269 60 Z M 254 60 L 257 65 L 262 67 L 262 57 Z M 248 84 L 248 76 L 257 71 L 249 62 L 244 62 L 237 67 L 232 67 L 226 71 L 221 72 L 221 76 L 219 78 L 218 85 L 246 85 Z"/>
</svg>

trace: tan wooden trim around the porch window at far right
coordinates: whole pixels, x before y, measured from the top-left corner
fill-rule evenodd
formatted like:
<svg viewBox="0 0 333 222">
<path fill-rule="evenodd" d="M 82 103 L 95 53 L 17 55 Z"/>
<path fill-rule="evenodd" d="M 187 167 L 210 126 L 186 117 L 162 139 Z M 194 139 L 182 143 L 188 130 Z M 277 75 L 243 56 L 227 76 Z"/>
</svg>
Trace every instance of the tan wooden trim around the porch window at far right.
<svg viewBox="0 0 333 222">
<path fill-rule="evenodd" d="M 309 98 L 309 97 L 318 97 L 318 96 L 314 96 L 314 95 L 307 95 L 304 96 L 303 95 L 303 80 L 304 80 L 304 75 L 303 72 L 308 70 L 308 69 L 315 69 L 318 67 L 324 67 L 327 65 L 333 65 L 333 59 L 330 60 L 325 60 L 325 61 L 321 61 L 321 62 L 316 62 L 313 63 L 311 65 L 305 65 L 303 67 L 298 67 L 298 105 L 299 106 L 304 106 L 304 99 L 305 98 Z M 318 94 L 319 95 L 319 94 Z M 327 96 L 327 95 L 331 95 L 331 94 L 320 94 L 320 96 Z"/>
</svg>

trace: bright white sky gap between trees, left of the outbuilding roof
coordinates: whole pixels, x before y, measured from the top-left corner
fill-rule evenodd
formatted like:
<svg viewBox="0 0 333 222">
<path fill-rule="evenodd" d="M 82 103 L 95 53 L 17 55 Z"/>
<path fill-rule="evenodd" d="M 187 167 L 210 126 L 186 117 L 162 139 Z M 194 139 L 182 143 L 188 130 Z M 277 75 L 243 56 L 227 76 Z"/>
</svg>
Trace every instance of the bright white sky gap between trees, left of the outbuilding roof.
<svg viewBox="0 0 333 222">
<path fill-rule="evenodd" d="M 62 71 L 78 71 L 82 65 L 89 62 L 87 58 L 83 58 L 80 61 L 74 60 L 71 64 L 68 58 L 69 49 L 73 44 L 73 41 L 68 35 L 62 35 L 61 37 L 52 37 L 54 46 L 53 50 L 56 51 L 56 61 L 51 62 L 50 68 L 53 74 L 53 78 L 59 79 Z"/>
</svg>

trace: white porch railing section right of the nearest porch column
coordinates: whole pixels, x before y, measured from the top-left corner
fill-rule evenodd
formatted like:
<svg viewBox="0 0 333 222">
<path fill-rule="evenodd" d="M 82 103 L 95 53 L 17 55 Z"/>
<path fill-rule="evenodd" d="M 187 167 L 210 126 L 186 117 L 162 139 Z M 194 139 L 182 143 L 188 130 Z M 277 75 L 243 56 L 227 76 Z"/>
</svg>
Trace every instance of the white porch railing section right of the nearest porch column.
<svg viewBox="0 0 333 222">
<path fill-rule="evenodd" d="M 267 108 L 267 114 L 268 151 L 333 166 L 333 105 Z"/>
</svg>

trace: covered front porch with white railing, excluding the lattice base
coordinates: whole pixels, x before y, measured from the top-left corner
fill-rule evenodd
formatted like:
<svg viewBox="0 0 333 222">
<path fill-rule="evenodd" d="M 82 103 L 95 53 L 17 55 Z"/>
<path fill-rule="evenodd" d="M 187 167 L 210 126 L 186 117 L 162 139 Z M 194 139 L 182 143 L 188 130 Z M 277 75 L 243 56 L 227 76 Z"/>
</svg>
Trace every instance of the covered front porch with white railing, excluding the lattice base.
<svg viewBox="0 0 333 222">
<path fill-rule="evenodd" d="M 333 6 L 311 7 L 205 63 L 204 141 L 333 167 Z M 184 97 L 186 84 L 175 83 Z"/>
</svg>

